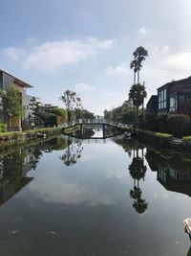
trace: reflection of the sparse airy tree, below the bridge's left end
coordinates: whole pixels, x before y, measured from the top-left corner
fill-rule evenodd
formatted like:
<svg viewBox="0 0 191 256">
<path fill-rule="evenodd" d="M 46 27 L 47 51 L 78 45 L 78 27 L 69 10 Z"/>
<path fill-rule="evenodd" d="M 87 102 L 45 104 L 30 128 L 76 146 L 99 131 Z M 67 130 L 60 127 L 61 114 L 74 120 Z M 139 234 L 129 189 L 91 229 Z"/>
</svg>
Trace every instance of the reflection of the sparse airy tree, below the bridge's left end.
<svg viewBox="0 0 191 256">
<path fill-rule="evenodd" d="M 66 166 L 73 166 L 76 164 L 77 160 L 81 157 L 83 151 L 82 143 L 72 143 L 68 145 L 64 154 L 60 157 Z"/>
</svg>

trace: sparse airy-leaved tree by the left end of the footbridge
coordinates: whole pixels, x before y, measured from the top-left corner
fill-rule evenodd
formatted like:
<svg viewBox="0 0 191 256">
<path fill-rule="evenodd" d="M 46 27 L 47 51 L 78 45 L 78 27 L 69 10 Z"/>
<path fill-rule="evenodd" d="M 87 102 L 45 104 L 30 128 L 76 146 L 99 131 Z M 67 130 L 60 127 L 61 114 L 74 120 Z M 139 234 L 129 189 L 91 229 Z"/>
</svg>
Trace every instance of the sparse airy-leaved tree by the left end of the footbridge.
<svg viewBox="0 0 191 256">
<path fill-rule="evenodd" d="M 77 97 L 74 91 L 66 90 L 63 95 L 60 97 L 60 100 L 66 105 L 68 111 L 68 120 L 71 121 L 71 112 L 78 108 L 82 107 L 81 99 Z"/>
</svg>

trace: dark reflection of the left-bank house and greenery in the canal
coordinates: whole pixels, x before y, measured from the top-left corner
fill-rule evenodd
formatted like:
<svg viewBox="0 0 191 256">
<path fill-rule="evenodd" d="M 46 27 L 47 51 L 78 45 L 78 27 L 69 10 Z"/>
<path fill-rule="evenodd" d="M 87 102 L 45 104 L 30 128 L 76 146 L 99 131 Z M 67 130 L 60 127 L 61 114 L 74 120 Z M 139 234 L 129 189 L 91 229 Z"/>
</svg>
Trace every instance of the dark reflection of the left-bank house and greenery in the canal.
<svg viewBox="0 0 191 256">
<path fill-rule="evenodd" d="M 28 148 L 19 148 L 0 155 L 0 205 L 14 196 L 24 186 L 32 181 L 28 176 L 35 170 L 43 151 L 65 149 L 66 139 L 55 138 L 51 141 L 31 145 Z"/>
</svg>

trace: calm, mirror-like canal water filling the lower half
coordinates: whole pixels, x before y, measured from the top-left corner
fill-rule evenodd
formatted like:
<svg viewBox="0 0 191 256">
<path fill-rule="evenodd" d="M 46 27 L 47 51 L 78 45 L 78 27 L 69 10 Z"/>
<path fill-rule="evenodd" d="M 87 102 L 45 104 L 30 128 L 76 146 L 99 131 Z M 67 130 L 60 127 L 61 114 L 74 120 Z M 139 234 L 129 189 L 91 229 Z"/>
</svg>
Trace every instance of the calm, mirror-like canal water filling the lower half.
<svg viewBox="0 0 191 256">
<path fill-rule="evenodd" d="M 6 151 L 0 255 L 191 255 L 190 196 L 191 155 L 122 137 Z"/>
</svg>

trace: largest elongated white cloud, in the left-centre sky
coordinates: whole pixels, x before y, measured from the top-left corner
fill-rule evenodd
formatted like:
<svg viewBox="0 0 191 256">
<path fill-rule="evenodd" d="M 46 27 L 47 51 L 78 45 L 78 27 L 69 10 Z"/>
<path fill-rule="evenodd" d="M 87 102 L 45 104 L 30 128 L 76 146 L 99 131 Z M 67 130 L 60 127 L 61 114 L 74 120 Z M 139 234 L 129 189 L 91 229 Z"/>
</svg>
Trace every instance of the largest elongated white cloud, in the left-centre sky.
<svg viewBox="0 0 191 256">
<path fill-rule="evenodd" d="M 32 49 L 24 67 L 42 73 L 53 73 L 65 65 L 96 57 L 100 51 L 113 46 L 114 40 L 99 40 L 88 37 L 62 41 L 48 41 Z"/>
</svg>

